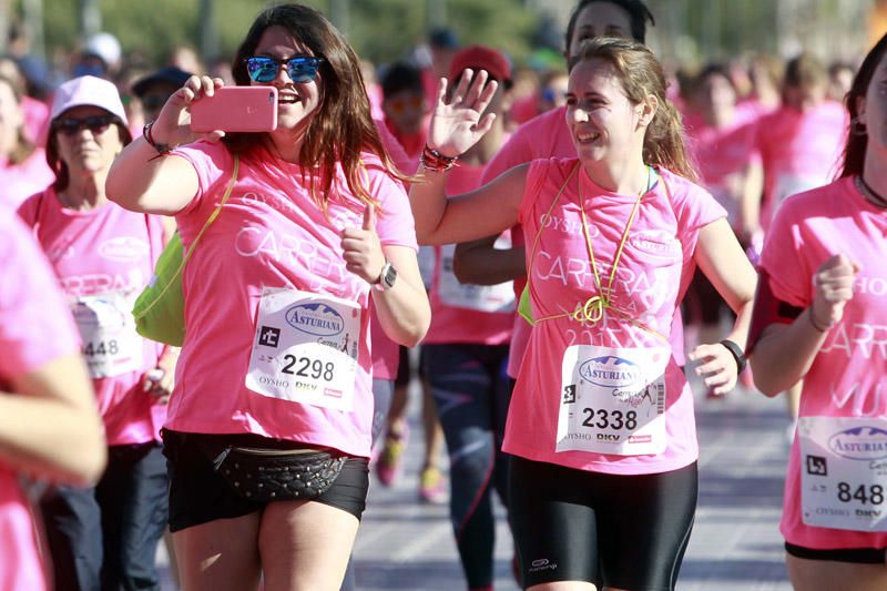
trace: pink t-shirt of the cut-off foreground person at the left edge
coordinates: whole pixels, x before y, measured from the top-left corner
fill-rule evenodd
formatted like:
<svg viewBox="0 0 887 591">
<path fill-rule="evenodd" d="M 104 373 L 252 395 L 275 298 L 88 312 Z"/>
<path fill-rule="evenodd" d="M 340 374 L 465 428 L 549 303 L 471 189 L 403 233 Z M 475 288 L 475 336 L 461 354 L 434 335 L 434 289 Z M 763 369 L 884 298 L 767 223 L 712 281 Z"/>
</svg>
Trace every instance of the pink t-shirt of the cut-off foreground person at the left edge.
<svg viewBox="0 0 887 591">
<path fill-rule="evenodd" d="M 16 377 L 80 351 L 68 305 L 43 253 L 14 214 L 0 207 L 0 391 Z M 0 589 L 47 589 L 30 507 L 0 460 Z"/>
</svg>

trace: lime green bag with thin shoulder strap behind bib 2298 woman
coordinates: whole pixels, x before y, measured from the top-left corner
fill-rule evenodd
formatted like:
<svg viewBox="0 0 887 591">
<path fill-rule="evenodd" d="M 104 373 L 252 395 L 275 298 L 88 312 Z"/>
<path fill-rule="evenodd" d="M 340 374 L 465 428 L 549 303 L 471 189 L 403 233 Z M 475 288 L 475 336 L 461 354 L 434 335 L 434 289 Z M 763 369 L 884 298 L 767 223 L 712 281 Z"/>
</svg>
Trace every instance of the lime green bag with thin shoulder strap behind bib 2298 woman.
<svg viewBox="0 0 887 591">
<path fill-rule="evenodd" d="M 139 295 L 132 308 L 135 318 L 135 330 L 145 338 L 181 347 L 185 340 L 185 298 L 182 292 L 182 269 L 194 254 L 194 247 L 203 236 L 206 228 L 212 225 L 222 206 L 231 196 L 234 183 L 237 181 L 239 159 L 234 156 L 234 172 L 225 190 L 225 195 L 213 213 L 203 224 L 187 253 L 182 246 L 179 232 L 173 234 L 163 248 L 154 265 L 154 275 L 151 282 Z"/>
</svg>

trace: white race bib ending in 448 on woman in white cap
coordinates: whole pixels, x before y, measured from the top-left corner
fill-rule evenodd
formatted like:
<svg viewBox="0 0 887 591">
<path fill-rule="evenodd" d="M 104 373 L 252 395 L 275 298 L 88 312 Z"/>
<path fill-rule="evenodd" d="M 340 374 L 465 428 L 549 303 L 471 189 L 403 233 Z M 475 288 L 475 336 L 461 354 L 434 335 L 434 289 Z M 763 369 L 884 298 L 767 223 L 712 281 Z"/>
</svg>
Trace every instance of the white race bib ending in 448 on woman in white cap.
<svg viewBox="0 0 887 591">
<path fill-rule="evenodd" d="M 71 302 L 91 377 L 108 378 L 142 368 L 142 337 L 130 313 L 132 302 L 123 292 L 79 296 Z"/>
</svg>

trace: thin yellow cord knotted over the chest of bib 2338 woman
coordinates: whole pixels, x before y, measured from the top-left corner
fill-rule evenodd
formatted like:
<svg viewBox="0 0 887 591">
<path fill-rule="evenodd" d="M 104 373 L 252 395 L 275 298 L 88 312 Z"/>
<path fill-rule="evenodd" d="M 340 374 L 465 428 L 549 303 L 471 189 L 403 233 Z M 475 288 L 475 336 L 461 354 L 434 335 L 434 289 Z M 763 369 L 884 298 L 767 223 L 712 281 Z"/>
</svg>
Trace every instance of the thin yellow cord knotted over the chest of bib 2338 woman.
<svg viewBox="0 0 887 591">
<path fill-rule="evenodd" d="M 564 181 L 564 183 L 561 186 L 560 191 L 558 191 L 558 194 L 554 196 L 554 201 L 551 203 L 551 206 L 549 207 L 549 211 L 548 211 L 548 216 L 549 217 L 551 216 L 551 212 L 554 210 L 554 204 L 558 202 L 558 200 L 560 198 L 561 194 L 563 193 L 564 187 L 570 182 L 570 180 L 573 177 L 573 174 L 575 173 L 575 171 L 580 166 L 581 166 L 581 163 L 577 163 L 575 167 L 573 167 L 573 170 L 570 172 L 570 175 L 567 177 L 567 181 Z M 537 318 L 537 319 L 534 319 L 534 322 L 542 322 L 542 320 L 551 320 L 551 319 L 554 319 L 554 318 L 571 317 L 572 319 L 574 319 L 578 323 L 595 324 L 601 318 L 603 318 L 604 310 L 610 310 L 613 314 L 615 314 L 616 316 L 619 316 L 620 319 L 622 319 L 624 322 L 628 322 L 628 323 L 630 323 L 630 324 L 632 324 L 634 326 L 638 326 L 639 328 L 642 328 L 643 330 L 646 330 L 648 333 L 651 333 L 652 335 L 661 338 L 662 340 L 664 340 L 666 343 L 669 342 L 669 339 L 665 336 L 663 336 L 659 332 L 650 328 L 649 326 L 644 325 L 643 323 L 640 323 L 636 319 L 632 318 L 629 314 L 626 314 L 626 313 L 613 307 L 613 305 L 610 302 L 610 297 L 611 297 L 612 292 L 613 292 L 613 282 L 615 281 L 616 269 L 619 268 L 619 261 L 622 257 L 622 249 L 625 246 L 625 241 L 628 241 L 628 238 L 629 238 L 629 231 L 631 230 L 631 226 L 634 223 L 635 217 L 638 216 L 638 210 L 641 206 L 641 198 L 643 197 L 644 193 L 646 193 L 649 187 L 650 187 L 650 170 L 651 169 L 648 166 L 648 169 L 646 169 L 646 186 L 644 188 L 642 188 L 641 192 L 638 194 L 638 198 L 634 201 L 634 206 L 632 207 L 631 215 L 629 216 L 629 222 L 628 222 L 628 224 L 625 224 L 625 230 L 622 232 L 622 238 L 619 241 L 619 247 L 616 248 L 616 254 L 615 254 L 615 257 L 613 258 L 613 267 L 610 271 L 610 279 L 609 279 L 609 282 L 606 284 L 606 292 L 605 293 L 604 293 L 603 286 L 601 285 L 600 274 L 598 273 L 598 263 L 597 263 L 597 259 L 594 258 L 594 248 L 591 245 L 591 236 L 589 234 L 588 220 L 585 218 L 585 203 L 584 203 L 584 198 L 583 198 L 583 194 L 582 194 L 582 180 L 579 179 L 579 212 L 582 215 L 582 233 L 583 233 L 583 235 L 585 237 L 585 246 L 587 246 L 588 253 L 589 253 L 589 262 L 591 263 L 591 269 L 592 269 L 592 273 L 594 274 L 594 285 L 598 287 L 598 294 L 589 297 L 585 300 L 584 304 L 578 304 L 575 310 L 573 310 L 572 313 L 553 314 L 551 316 L 544 316 L 542 318 Z M 536 240 L 533 241 L 533 248 L 532 248 L 532 252 L 530 254 L 530 263 L 531 264 L 532 264 L 532 259 L 536 256 L 536 247 L 537 247 L 537 245 L 539 243 L 539 238 L 540 238 L 541 234 L 542 234 L 542 228 L 540 227 L 539 232 L 536 235 Z M 527 276 L 528 284 L 530 282 L 531 275 L 532 275 L 532 273 L 529 273 L 528 276 Z"/>
</svg>

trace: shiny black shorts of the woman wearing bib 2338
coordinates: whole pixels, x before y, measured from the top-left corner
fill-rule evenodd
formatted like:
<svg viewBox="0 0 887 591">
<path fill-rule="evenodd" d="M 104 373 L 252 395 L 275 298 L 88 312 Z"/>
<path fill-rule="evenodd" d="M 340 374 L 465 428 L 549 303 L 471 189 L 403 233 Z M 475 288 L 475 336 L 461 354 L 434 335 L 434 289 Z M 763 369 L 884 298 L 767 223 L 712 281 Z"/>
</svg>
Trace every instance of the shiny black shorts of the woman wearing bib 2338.
<svg viewBox="0 0 887 591">
<path fill-rule="evenodd" d="M 696 510 L 696 463 L 620 476 L 513 457 L 509 517 L 524 588 L 671 591 Z"/>
</svg>

